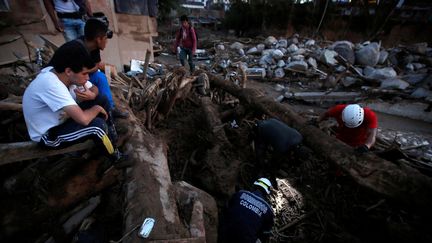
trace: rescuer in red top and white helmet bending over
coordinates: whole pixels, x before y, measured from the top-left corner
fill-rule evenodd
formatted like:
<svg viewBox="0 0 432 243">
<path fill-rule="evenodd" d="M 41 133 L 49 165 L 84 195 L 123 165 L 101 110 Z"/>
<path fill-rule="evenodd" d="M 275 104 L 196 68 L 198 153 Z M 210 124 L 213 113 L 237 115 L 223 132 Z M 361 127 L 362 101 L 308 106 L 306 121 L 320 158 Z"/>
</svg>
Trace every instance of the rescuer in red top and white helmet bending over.
<svg viewBox="0 0 432 243">
<path fill-rule="evenodd" d="M 374 145 L 378 120 L 371 109 L 362 108 L 358 104 L 336 105 L 322 114 L 318 122 L 330 117 L 338 123 L 336 137 L 354 147 L 356 151 L 368 152 Z"/>
</svg>

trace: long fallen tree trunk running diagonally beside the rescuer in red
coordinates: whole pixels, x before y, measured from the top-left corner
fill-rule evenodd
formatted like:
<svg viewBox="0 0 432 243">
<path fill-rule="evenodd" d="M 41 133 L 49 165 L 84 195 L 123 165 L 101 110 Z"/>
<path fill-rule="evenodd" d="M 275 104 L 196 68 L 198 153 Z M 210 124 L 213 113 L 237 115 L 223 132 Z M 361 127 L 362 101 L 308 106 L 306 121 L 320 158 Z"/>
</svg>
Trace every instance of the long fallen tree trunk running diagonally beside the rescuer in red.
<svg viewBox="0 0 432 243">
<path fill-rule="evenodd" d="M 348 145 L 307 125 L 287 104 L 259 95 L 252 89 L 241 89 L 222 78 L 208 74 L 212 87 L 219 87 L 238 97 L 242 102 L 270 116 L 277 117 L 297 129 L 306 145 L 326 160 L 339 166 L 358 184 L 396 201 L 429 209 L 432 204 L 432 179 L 417 170 L 401 168 L 373 153 L 356 154 Z M 430 210 L 430 209 L 429 209 Z"/>
</svg>

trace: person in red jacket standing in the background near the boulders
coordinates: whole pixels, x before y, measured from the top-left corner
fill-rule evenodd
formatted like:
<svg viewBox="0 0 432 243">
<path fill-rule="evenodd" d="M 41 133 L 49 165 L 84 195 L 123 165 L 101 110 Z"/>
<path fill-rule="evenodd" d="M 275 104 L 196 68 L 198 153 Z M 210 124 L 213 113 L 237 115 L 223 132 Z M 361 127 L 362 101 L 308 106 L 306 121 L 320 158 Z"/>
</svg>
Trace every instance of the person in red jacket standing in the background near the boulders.
<svg viewBox="0 0 432 243">
<path fill-rule="evenodd" d="M 177 31 L 176 40 L 174 42 L 173 52 L 177 53 L 177 48 L 180 47 L 180 63 L 186 65 L 186 59 L 189 63 L 190 72 L 195 71 L 193 56 L 197 48 L 197 38 L 195 29 L 191 26 L 189 18 L 186 15 L 180 17 L 181 28 Z"/>
</svg>

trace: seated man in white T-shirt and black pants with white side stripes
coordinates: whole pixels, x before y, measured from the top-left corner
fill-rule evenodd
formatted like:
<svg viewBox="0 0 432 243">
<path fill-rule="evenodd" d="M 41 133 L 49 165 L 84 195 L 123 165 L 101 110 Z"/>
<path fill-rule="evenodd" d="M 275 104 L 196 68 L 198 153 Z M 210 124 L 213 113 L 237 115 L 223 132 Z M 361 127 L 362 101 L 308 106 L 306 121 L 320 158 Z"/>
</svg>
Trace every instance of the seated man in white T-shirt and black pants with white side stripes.
<svg viewBox="0 0 432 243">
<path fill-rule="evenodd" d="M 68 42 L 54 53 L 51 64 L 24 92 L 23 112 L 30 138 L 54 149 L 92 139 L 113 162 L 124 160 L 107 136 L 105 109 L 95 100 L 87 101 L 88 108 L 83 108 L 69 93 L 72 84 L 85 84 L 94 66 L 87 50 L 77 42 Z"/>
</svg>

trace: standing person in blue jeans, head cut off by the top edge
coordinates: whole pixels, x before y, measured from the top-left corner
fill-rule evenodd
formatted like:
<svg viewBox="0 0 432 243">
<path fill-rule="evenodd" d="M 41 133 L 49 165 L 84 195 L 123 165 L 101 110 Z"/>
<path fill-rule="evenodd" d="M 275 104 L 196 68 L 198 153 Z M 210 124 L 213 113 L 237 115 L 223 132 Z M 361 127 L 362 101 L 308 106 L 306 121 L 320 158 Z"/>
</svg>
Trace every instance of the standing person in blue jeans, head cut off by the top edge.
<svg viewBox="0 0 432 243">
<path fill-rule="evenodd" d="M 84 35 L 85 19 L 93 13 L 88 0 L 44 0 L 54 27 L 66 42 Z"/>
</svg>

